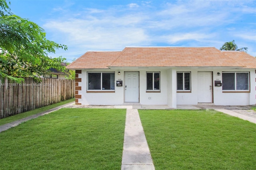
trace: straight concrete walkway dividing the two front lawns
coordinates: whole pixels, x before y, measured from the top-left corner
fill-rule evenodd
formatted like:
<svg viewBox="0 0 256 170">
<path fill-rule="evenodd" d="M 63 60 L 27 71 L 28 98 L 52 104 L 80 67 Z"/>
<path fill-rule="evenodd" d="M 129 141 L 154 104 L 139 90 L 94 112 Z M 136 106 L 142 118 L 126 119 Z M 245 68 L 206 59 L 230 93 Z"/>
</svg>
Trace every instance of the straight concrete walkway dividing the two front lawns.
<svg viewBox="0 0 256 170">
<path fill-rule="evenodd" d="M 126 109 L 121 170 L 154 170 L 137 109 Z"/>
</svg>

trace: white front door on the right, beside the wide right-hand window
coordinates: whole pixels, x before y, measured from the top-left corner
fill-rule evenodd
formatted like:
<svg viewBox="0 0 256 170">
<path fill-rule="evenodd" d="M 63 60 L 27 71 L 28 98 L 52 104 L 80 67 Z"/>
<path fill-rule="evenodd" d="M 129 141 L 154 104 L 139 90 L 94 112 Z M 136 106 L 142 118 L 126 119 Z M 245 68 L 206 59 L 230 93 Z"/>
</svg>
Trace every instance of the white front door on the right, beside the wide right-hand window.
<svg viewBox="0 0 256 170">
<path fill-rule="evenodd" d="M 212 103 L 212 72 L 198 71 L 198 102 Z"/>
</svg>

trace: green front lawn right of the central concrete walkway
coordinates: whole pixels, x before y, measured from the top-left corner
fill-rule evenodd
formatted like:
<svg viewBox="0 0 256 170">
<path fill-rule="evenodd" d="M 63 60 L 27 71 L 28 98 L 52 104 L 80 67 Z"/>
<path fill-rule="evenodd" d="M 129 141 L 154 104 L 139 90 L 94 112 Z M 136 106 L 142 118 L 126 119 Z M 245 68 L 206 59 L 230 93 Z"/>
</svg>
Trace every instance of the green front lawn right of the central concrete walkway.
<svg viewBox="0 0 256 170">
<path fill-rule="evenodd" d="M 255 170 L 256 124 L 213 110 L 139 110 L 156 170 Z"/>
</svg>

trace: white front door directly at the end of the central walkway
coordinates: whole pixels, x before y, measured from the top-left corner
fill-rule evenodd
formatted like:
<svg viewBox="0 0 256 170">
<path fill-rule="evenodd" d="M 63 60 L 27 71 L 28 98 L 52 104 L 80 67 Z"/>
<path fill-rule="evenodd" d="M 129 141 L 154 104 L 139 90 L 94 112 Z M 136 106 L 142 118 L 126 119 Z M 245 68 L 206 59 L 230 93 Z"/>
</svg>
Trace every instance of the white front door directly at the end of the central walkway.
<svg viewBox="0 0 256 170">
<path fill-rule="evenodd" d="M 139 72 L 126 71 L 124 76 L 124 102 L 139 102 Z"/>
</svg>

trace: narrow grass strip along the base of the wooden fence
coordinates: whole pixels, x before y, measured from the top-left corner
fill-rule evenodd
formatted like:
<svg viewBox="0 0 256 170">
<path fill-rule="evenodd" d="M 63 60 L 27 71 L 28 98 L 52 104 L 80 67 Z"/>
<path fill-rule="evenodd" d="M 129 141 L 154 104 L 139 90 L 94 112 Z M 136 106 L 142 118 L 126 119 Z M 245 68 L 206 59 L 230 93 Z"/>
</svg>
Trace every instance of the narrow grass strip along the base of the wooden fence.
<svg viewBox="0 0 256 170">
<path fill-rule="evenodd" d="M 58 106 L 61 106 L 61 105 L 65 105 L 65 104 L 70 103 L 72 101 L 75 101 L 75 98 L 72 98 L 72 99 L 69 99 L 69 100 L 66 100 L 66 101 L 61 101 L 59 103 L 55 103 L 55 104 L 48 105 L 48 106 L 45 106 L 45 107 L 40 107 L 40 108 L 34 109 L 32 111 L 27 111 L 27 112 L 24 112 L 24 113 L 20 113 L 18 115 L 6 117 L 6 118 L 3 118 L 3 119 L 0 119 L 0 125 L 4 125 L 6 123 L 17 121 L 19 119 L 22 119 L 22 118 L 25 118 L 25 117 L 28 117 L 28 116 L 31 116 L 31 115 L 36 115 L 36 114 L 41 113 L 43 111 L 47 111 L 49 109 L 52 109 L 54 107 L 58 107 Z"/>
</svg>

